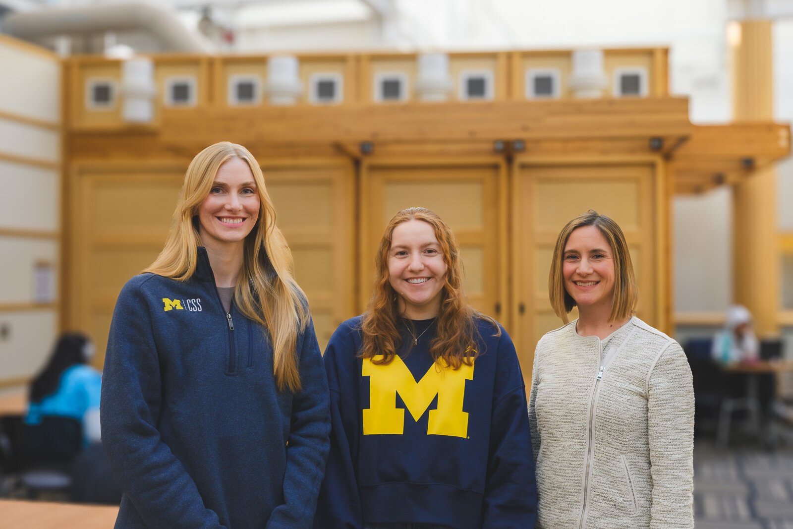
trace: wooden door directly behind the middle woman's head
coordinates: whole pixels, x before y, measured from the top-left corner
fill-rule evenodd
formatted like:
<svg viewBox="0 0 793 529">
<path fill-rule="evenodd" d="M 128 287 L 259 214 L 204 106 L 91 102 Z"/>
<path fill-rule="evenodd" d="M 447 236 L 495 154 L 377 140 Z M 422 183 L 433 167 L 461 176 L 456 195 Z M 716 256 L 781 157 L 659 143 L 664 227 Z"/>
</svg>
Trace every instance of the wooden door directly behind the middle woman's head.
<svg viewBox="0 0 793 529">
<path fill-rule="evenodd" d="M 366 308 L 371 295 L 374 256 L 385 225 L 400 209 L 422 206 L 438 213 L 454 231 L 465 266 L 463 287 L 471 305 L 498 319 L 504 279 L 500 264 L 506 259 L 497 211 L 503 174 L 500 159 L 362 164 L 360 308 Z"/>
</svg>

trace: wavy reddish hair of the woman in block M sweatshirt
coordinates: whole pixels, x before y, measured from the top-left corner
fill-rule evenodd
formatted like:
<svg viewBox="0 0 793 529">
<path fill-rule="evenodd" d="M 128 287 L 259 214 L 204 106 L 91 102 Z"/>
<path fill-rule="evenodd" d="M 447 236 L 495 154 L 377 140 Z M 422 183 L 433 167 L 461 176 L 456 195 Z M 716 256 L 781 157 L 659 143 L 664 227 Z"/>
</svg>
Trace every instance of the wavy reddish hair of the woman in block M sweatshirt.
<svg viewBox="0 0 793 529">
<path fill-rule="evenodd" d="M 443 358 L 446 365 L 455 370 L 463 363 L 470 366 L 481 354 L 477 351 L 476 339 L 479 333 L 474 319 L 491 322 L 496 336 L 500 335 L 501 331 L 495 320 L 473 309 L 465 300 L 462 291 L 460 247 L 449 225 L 426 208 L 403 209 L 394 215 L 385 227 L 385 233 L 375 255 L 377 279 L 374 282 L 374 292 L 361 324 L 363 349 L 360 356 L 373 358 L 375 355 L 383 355 L 381 360 L 373 360 L 373 362 L 389 364 L 402 344 L 397 291 L 389 281 L 389 251 L 391 251 L 394 228 L 408 220 L 421 220 L 432 226 L 435 238 L 441 247 L 443 262 L 446 263 L 446 276 L 441 290 L 441 308 L 438 315 L 438 333 L 430 343 L 430 355 L 436 362 L 439 358 Z"/>
</svg>

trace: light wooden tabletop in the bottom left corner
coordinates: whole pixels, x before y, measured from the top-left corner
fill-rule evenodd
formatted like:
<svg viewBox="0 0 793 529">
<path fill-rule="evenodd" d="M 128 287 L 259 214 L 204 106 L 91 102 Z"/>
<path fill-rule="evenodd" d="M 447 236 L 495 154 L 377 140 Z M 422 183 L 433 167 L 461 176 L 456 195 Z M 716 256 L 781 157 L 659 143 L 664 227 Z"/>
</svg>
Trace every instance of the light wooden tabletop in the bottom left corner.
<svg viewBox="0 0 793 529">
<path fill-rule="evenodd" d="M 14 529 L 109 529 L 116 516 L 115 506 L 0 500 L 0 523 Z"/>
</svg>

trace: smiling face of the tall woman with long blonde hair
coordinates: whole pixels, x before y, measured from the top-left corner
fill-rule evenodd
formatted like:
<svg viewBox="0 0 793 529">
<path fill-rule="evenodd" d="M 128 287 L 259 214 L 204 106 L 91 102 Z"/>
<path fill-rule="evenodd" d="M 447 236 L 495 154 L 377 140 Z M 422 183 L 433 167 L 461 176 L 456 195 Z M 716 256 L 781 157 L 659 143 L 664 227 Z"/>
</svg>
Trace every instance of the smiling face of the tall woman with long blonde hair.
<svg viewBox="0 0 793 529">
<path fill-rule="evenodd" d="M 251 167 L 242 159 L 228 159 L 198 208 L 201 242 L 216 251 L 241 249 L 258 218 L 259 194 Z"/>
</svg>

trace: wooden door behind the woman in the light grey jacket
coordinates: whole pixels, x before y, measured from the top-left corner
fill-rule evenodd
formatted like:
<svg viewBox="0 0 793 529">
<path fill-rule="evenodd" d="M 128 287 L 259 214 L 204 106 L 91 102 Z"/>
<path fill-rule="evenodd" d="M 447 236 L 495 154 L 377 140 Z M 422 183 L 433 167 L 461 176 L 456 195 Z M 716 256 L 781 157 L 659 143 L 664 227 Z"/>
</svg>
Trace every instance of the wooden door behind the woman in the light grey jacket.
<svg viewBox="0 0 793 529">
<path fill-rule="evenodd" d="M 595 209 L 614 219 L 625 233 L 638 286 L 638 316 L 664 328 L 666 200 L 659 168 L 653 159 L 638 162 L 571 164 L 538 163 L 530 158 L 513 164 L 513 335 L 524 375 L 531 374 L 534 347 L 546 332 L 561 326 L 548 298 L 548 275 L 561 228 Z M 576 309 L 569 319 L 577 317 Z"/>
</svg>

